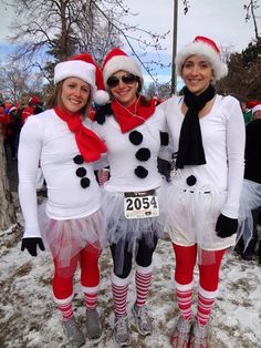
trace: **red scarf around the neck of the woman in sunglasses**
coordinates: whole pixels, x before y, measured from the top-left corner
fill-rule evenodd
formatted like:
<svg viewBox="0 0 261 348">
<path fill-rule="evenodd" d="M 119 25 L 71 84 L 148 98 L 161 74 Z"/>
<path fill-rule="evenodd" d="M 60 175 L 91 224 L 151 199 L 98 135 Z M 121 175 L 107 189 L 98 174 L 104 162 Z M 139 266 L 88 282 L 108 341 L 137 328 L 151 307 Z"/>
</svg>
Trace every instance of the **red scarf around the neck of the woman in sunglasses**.
<svg viewBox="0 0 261 348">
<path fill-rule="evenodd" d="M 140 100 L 130 105 L 129 108 L 124 108 L 115 100 L 112 102 L 111 108 L 113 110 L 114 116 L 118 122 L 122 133 L 126 133 L 138 125 L 143 124 L 148 117 L 155 113 L 156 102 L 150 100 L 149 104 L 143 105 Z"/>
</svg>

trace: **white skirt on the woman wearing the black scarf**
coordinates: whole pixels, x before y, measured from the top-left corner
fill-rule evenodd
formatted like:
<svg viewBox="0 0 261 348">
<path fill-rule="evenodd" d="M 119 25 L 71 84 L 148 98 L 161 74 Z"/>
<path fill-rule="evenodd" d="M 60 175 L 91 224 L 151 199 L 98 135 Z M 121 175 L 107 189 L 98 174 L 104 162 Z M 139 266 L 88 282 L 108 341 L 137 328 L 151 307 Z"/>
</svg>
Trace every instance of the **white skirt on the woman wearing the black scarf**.
<svg viewBox="0 0 261 348">
<path fill-rule="evenodd" d="M 220 238 L 215 231 L 226 197 L 227 191 L 182 187 L 175 180 L 168 186 L 166 229 L 177 245 L 198 245 L 198 263 L 215 262 L 215 253 L 203 253 L 202 259 L 200 250 L 221 250 L 236 244 L 236 235 Z"/>
</svg>

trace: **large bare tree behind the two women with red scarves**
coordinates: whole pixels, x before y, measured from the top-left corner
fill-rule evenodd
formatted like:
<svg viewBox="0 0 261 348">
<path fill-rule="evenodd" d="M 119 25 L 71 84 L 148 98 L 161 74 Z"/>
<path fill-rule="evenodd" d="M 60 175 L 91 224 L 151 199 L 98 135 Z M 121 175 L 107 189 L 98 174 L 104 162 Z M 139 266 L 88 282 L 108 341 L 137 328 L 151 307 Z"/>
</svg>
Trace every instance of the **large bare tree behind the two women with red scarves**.
<svg viewBox="0 0 261 348">
<path fill-rule="evenodd" d="M 126 16 L 135 13 L 124 0 L 17 0 L 14 11 L 11 40 L 20 43 L 17 58 L 27 60 L 28 68 L 39 68 L 49 80 L 56 61 L 88 51 L 101 62 L 112 47 L 124 42 L 150 74 L 155 62 L 144 63 L 146 51 L 163 50 L 160 42 L 167 35 L 125 23 Z"/>
</svg>

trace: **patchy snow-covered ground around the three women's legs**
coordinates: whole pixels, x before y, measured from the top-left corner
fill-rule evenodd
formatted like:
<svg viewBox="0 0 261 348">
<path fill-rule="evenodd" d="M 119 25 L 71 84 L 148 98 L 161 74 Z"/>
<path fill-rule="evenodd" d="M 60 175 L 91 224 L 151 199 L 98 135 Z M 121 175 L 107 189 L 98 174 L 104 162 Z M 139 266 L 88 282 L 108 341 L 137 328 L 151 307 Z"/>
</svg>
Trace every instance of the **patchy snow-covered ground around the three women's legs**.
<svg viewBox="0 0 261 348">
<path fill-rule="evenodd" d="M 21 214 L 18 213 L 22 224 Z M 52 301 L 52 262 L 48 253 L 36 258 L 20 252 L 19 228 L 0 232 L 0 347 L 67 348 L 60 314 Z M 148 306 L 154 318 L 154 332 L 142 337 L 130 317 L 132 347 L 168 348 L 177 321 L 173 274 L 174 255 L 169 242 L 160 240 L 155 253 L 155 269 Z M 111 293 L 111 257 L 105 249 L 101 257 L 98 311 L 103 337 L 84 347 L 115 347 L 112 339 L 113 303 Z M 84 330 L 84 303 L 75 277 L 75 316 Z M 196 273 L 197 280 L 197 273 Z M 135 298 L 133 284 L 129 309 Z M 257 260 L 246 262 L 227 256 L 221 270 L 219 296 L 212 311 L 212 348 L 261 347 L 261 267 Z"/>
</svg>

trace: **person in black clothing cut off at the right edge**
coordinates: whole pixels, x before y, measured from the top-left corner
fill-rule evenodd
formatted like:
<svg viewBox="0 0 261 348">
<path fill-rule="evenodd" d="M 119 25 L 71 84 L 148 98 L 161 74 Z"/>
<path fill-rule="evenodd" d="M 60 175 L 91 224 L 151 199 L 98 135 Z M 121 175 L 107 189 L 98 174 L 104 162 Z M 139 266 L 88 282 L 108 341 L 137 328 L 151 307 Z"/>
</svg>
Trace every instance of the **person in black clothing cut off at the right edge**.
<svg viewBox="0 0 261 348">
<path fill-rule="evenodd" d="M 240 201 L 240 217 L 243 218 L 240 239 L 236 250 L 246 260 L 255 257 L 258 244 L 258 223 L 261 213 L 261 104 L 252 109 L 253 121 L 246 127 L 246 168 Z M 258 247 L 259 263 L 261 263 L 261 240 Z"/>
</svg>

